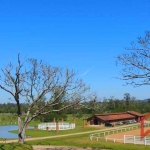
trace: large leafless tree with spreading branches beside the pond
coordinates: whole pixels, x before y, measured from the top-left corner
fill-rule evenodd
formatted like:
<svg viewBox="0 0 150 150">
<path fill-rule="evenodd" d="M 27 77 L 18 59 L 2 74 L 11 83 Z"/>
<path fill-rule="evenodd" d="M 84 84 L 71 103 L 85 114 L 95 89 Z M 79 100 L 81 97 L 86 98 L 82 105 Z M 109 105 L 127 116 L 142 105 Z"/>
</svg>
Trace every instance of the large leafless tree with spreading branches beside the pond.
<svg viewBox="0 0 150 150">
<path fill-rule="evenodd" d="M 52 67 L 35 59 L 9 63 L 1 69 L 0 88 L 17 103 L 18 142 L 24 143 L 25 128 L 35 117 L 74 107 L 89 96 L 89 87 L 76 78 L 73 70 Z M 21 101 L 28 105 L 22 120 Z M 59 106 L 59 107 L 58 107 Z M 31 113 L 32 111 L 32 113 Z"/>
</svg>

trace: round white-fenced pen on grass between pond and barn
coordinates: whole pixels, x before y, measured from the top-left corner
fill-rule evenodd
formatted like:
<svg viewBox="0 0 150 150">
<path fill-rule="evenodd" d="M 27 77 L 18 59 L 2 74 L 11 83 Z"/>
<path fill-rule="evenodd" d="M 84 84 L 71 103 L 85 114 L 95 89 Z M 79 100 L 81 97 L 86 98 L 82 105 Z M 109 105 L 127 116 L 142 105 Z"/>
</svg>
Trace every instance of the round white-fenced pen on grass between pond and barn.
<svg viewBox="0 0 150 150">
<path fill-rule="evenodd" d="M 48 127 L 48 130 L 56 130 L 56 123 L 41 123 L 38 124 L 38 129 L 40 130 L 46 130 Z M 69 130 L 69 129 L 74 129 L 75 124 L 74 123 L 58 123 L 58 130 Z"/>
</svg>

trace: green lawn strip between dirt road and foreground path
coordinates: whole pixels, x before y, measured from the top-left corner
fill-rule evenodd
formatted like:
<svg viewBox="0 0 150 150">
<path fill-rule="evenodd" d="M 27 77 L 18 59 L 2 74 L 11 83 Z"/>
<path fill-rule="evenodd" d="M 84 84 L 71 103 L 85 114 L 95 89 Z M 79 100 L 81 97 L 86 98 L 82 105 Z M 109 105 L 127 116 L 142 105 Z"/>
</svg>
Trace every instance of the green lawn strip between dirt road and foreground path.
<svg viewBox="0 0 150 150">
<path fill-rule="evenodd" d="M 74 135 L 69 137 L 60 137 L 45 140 L 36 140 L 27 142 L 32 145 L 57 145 L 57 146 L 76 146 L 76 147 L 92 147 L 92 148 L 103 148 L 111 150 L 148 150 L 149 146 L 144 145 L 134 145 L 134 144 L 123 144 L 123 143 L 113 143 L 112 141 L 105 142 L 104 139 L 99 141 L 90 140 L 89 134 Z"/>
</svg>

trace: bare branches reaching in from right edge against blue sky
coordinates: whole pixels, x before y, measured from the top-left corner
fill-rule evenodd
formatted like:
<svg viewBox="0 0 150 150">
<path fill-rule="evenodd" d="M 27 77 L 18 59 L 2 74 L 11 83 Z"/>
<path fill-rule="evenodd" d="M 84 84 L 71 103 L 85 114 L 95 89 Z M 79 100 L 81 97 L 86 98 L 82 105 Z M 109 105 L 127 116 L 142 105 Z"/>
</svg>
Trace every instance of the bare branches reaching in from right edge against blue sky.
<svg viewBox="0 0 150 150">
<path fill-rule="evenodd" d="M 117 64 L 123 66 L 121 77 L 127 84 L 133 86 L 150 84 L 150 31 L 145 32 L 145 37 L 138 37 L 137 42 L 131 43 L 128 51 L 117 56 Z"/>
</svg>

